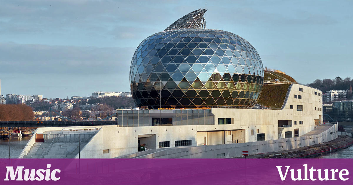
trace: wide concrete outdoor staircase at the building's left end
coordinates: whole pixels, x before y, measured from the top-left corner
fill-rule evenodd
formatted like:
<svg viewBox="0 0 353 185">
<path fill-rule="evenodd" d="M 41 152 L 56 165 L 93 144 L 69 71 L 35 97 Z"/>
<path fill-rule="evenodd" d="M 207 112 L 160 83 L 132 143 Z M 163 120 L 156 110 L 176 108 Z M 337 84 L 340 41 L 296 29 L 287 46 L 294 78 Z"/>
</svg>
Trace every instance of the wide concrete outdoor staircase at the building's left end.
<svg viewBox="0 0 353 185">
<path fill-rule="evenodd" d="M 80 149 L 94 137 L 97 131 L 51 131 L 52 134 L 44 143 L 34 143 L 23 158 L 74 158 L 78 154 L 78 135 L 80 135 Z M 55 135 L 57 134 L 57 135 Z"/>
</svg>

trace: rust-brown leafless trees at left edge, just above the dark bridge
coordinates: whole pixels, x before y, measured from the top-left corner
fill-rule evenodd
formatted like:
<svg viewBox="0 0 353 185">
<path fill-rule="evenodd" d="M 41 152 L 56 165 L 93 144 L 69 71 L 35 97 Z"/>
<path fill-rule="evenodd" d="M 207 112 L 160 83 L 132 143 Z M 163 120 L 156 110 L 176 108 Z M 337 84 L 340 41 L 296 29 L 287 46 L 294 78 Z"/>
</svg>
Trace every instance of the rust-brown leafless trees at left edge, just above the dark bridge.
<svg viewBox="0 0 353 185">
<path fill-rule="evenodd" d="M 33 110 L 24 104 L 0 104 L 0 121 L 32 121 Z"/>
</svg>

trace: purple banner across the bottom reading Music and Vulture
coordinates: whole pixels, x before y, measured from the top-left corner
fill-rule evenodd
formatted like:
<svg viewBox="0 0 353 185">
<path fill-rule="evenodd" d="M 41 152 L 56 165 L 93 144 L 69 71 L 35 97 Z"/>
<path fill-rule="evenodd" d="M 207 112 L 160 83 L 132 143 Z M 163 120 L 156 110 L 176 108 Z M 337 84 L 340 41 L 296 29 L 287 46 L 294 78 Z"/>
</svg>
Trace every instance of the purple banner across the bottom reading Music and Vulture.
<svg viewBox="0 0 353 185">
<path fill-rule="evenodd" d="M 352 184 L 352 173 L 353 159 L 0 159 L 0 184 Z"/>
</svg>

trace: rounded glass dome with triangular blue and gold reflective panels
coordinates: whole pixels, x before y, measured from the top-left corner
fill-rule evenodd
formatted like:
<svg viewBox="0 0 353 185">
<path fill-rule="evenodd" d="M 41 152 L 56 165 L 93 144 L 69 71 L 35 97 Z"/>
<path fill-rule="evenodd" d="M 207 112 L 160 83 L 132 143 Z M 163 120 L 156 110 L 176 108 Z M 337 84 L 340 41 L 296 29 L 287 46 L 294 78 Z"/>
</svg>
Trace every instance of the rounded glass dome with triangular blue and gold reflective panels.
<svg viewBox="0 0 353 185">
<path fill-rule="evenodd" d="M 147 37 L 130 67 L 136 106 L 201 108 L 255 105 L 263 66 L 255 48 L 222 30 L 175 29 Z"/>
</svg>

